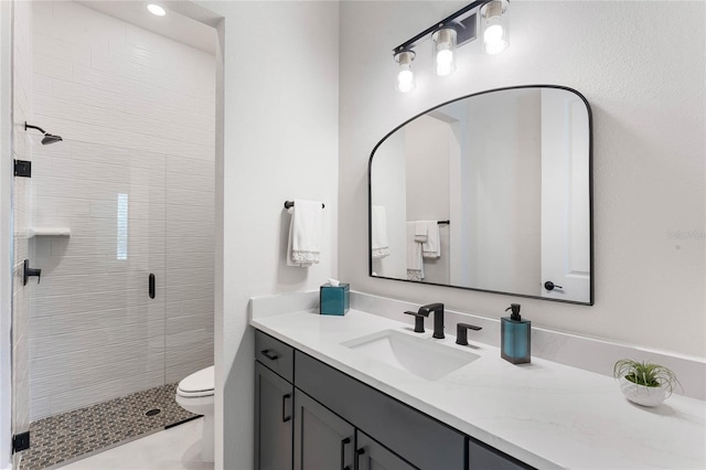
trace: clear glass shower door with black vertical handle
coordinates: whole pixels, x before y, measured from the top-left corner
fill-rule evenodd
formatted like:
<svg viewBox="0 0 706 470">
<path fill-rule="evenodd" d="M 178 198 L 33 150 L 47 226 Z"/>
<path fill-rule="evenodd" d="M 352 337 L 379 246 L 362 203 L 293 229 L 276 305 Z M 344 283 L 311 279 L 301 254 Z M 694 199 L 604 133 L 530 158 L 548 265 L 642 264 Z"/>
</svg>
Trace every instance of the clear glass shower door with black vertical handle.
<svg viewBox="0 0 706 470">
<path fill-rule="evenodd" d="M 164 156 L 63 137 L 33 149 L 33 223 L 71 236 L 33 242 L 32 420 L 164 384 Z"/>
</svg>

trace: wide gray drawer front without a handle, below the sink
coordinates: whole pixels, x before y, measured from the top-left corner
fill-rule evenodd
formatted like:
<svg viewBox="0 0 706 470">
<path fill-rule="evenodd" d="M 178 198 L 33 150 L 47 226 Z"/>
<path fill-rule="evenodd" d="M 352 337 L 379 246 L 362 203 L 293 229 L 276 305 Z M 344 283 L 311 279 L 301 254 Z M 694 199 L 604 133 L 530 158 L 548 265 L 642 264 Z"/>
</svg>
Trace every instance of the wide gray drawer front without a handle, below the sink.
<svg viewBox="0 0 706 470">
<path fill-rule="evenodd" d="M 299 351 L 295 362 L 297 387 L 413 466 L 466 467 L 464 435 Z"/>
</svg>

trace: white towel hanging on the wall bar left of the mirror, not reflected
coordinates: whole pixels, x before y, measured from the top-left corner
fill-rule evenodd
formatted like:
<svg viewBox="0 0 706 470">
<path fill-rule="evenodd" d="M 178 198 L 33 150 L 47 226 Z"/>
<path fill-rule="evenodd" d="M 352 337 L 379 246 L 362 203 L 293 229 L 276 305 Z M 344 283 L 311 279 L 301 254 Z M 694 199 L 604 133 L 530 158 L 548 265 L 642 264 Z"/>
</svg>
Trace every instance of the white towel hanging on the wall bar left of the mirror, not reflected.
<svg viewBox="0 0 706 470">
<path fill-rule="evenodd" d="M 321 202 L 296 199 L 291 214 L 287 266 L 309 267 L 319 263 L 321 252 Z"/>
</svg>

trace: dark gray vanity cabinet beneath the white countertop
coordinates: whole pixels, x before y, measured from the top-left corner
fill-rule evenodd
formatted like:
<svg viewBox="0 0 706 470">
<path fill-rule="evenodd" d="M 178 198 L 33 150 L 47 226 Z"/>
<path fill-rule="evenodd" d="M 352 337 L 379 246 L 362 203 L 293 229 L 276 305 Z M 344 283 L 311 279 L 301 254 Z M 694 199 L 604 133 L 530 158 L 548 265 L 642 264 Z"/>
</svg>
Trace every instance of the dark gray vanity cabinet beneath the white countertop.
<svg viewBox="0 0 706 470">
<path fill-rule="evenodd" d="M 531 469 L 265 333 L 255 344 L 256 469 Z"/>
</svg>

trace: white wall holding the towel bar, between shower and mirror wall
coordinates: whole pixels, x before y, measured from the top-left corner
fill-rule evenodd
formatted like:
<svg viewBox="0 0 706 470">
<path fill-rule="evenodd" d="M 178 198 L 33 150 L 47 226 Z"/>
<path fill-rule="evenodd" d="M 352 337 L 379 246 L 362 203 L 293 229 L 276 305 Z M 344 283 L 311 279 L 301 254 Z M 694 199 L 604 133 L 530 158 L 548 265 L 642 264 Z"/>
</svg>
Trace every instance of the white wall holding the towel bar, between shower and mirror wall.
<svg viewBox="0 0 706 470">
<path fill-rule="evenodd" d="M 216 468 L 246 469 L 253 467 L 254 404 L 248 299 L 313 289 L 338 274 L 339 4 L 199 4 L 225 18 Z M 321 263 L 311 268 L 285 263 L 289 215 L 282 205 L 293 197 L 325 203 Z"/>
</svg>

